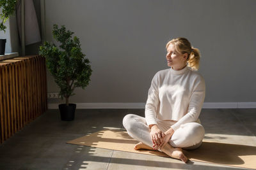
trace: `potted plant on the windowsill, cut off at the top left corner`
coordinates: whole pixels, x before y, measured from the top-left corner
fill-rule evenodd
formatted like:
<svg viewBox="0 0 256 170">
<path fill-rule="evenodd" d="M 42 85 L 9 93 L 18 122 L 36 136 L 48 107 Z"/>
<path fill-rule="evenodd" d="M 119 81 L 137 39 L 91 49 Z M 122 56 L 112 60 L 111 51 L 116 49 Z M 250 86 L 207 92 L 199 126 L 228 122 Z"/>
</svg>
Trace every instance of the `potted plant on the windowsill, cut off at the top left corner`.
<svg viewBox="0 0 256 170">
<path fill-rule="evenodd" d="M 6 30 L 6 26 L 4 23 L 8 18 L 13 15 L 15 11 L 15 6 L 16 6 L 16 0 L 0 0 L 0 18 L 1 18 L 1 23 L 0 23 L 0 31 Z M 0 55 L 4 55 L 5 52 L 5 43 L 6 39 L 0 39 Z"/>
</svg>

